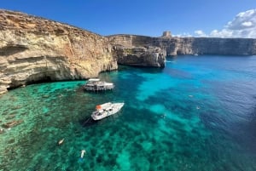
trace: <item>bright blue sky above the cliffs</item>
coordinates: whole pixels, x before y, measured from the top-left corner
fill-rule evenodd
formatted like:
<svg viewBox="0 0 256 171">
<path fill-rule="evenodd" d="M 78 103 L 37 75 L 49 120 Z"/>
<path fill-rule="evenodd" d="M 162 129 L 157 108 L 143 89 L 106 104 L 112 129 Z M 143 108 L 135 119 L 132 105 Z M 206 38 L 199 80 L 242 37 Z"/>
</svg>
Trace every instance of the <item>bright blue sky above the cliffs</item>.
<svg viewBox="0 0 256 171">
<path fill-rule="evenodd" d="M 253 12 L 237 20 L 249 28 L 256 26 L 256 0 L 2 0 L 0 9 L 64 22 L 103 36 L 159 37 L 162 31 L 171 31 L 177 36 L 226 37 L 229 31 L 235 34 L 227 28 L 237 22 L 237 14 L 250 9 Z M 239 33 L 235 29 L 233 36 L 256 37 L 253 30 Z"/>
</svg>

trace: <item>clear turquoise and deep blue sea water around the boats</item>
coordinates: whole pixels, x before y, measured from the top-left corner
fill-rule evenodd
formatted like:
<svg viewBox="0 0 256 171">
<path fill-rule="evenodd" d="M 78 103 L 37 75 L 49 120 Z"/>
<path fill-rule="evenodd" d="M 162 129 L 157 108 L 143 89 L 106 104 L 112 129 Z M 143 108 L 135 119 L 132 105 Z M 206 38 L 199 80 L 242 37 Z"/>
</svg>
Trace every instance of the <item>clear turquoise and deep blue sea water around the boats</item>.
<svg viewBox="0 0 256 171">
<path fill-rule="evenodd" d="M 100 77 L 113 91 L 87 93 L 79 81 L 3 94 L 0 127 L 22 123 L 0 134 L 0 170 L 256 170 L 255 56 L 179 56 L 163 70 Z M 84 123 L 119 100 L 118 114 Z"/>
</svg>

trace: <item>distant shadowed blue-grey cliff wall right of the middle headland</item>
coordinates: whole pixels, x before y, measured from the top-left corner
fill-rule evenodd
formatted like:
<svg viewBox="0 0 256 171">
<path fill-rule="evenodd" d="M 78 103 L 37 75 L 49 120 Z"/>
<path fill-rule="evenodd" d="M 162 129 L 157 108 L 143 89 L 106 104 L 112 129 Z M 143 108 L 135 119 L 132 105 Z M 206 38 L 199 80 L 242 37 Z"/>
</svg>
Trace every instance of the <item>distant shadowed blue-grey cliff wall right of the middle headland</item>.
<svg viewBox="0 0 256 171">
<path fill-rule="evenodd" d="M 166 49 L 167 55 L 177 54 L 256 54 L 256 39 L 213 37 L 160 37 L 157 45 Z"/>
</svg>

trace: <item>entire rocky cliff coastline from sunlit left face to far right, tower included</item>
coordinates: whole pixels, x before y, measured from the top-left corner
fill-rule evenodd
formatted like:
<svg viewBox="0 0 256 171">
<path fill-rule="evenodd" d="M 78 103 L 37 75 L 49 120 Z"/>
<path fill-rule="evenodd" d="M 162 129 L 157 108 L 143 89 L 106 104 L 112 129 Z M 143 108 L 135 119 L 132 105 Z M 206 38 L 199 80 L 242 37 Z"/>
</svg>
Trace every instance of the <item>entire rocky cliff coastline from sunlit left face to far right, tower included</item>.
<svg viewBox="0 0 256 171">
<path fill-rule="evenodd" d="M 135 35 L 102 37 L 74 26 L 0 10 L 0 94 L 38 81 L 97 77 L 118 64 L 165 67 L 166 55 L 256 54 L 256 40 Z"/>
</svg>

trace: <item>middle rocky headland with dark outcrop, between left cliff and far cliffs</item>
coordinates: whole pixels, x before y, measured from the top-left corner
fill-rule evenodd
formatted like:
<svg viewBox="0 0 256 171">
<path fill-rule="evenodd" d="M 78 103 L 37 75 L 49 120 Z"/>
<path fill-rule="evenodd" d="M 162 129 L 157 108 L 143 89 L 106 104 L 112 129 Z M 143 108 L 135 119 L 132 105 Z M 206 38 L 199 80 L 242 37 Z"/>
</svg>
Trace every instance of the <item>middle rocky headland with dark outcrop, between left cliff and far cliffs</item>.
<svg viewBox="0 0 256 171">
<path fill-rule="evenodd" d="M 121 65 L 166 66 L 166 50 L 155 45 L 155 37 L 115 35 L 108 39 L 113 45 L 113 56 Z"/>
</svg>

